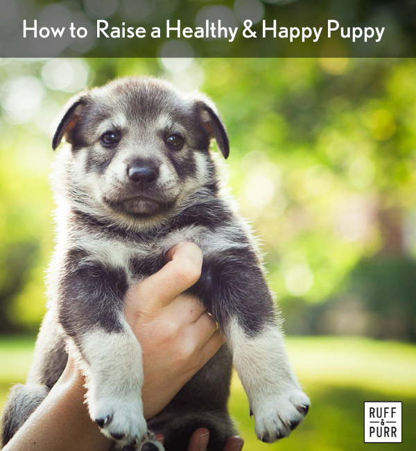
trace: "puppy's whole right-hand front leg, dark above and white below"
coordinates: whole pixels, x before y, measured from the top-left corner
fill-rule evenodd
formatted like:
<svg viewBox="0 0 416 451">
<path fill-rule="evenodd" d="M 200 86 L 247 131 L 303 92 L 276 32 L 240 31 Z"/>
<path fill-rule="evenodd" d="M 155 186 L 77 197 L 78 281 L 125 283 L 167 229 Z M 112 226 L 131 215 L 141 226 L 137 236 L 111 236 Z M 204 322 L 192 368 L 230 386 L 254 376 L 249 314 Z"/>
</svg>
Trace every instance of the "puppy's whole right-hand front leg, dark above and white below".
<svg viewBox="0 0 416 451">
<path fill-rule="evenodd" d="M 267 442 L 288 436 L 306 415 L 309 398 L 288 362 L 272 296 L 250 246 L 205 257 L 192 291 L 225 333 L 257 436 Z"/>
</svg>

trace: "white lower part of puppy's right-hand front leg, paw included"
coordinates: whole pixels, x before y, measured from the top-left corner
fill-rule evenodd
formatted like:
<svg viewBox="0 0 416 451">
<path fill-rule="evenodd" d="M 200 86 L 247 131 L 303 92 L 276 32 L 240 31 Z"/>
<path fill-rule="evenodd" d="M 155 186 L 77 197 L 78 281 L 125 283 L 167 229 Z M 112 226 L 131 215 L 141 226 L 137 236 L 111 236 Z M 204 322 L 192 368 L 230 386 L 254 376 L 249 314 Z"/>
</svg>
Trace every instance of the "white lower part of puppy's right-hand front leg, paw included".
<svg viewBox="0 0 416 451">
<path fill-rule="evenodd" d="M 268 443 L 283 439 L 307 414 L 309 398 L 297 383 L 281 332 L 268 324 L 250 336 L 234 319 L 227 337 L 256 420 L 257 436 Z"/>
</svg>

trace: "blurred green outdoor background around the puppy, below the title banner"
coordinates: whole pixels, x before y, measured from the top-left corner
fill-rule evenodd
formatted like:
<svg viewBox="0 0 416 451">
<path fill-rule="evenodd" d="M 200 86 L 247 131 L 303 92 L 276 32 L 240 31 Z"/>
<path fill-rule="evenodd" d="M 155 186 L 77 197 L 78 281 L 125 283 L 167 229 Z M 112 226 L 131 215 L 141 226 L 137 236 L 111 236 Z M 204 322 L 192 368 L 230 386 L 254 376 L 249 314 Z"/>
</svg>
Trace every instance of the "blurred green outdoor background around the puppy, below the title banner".
<svg viewBox="0 0 416 451">
<path fill-rule="evenodd" d="M 26 377 L 44 314 L 51 124 L 84 87 L 136 75 L 202 90 L 218 106 L 229 185 L 261 239 L 289 354 L 312 399 L 290 439 L 264 445 L 234 379 L 230 407 L 245 449 L 397 447 L 363 443 L 363 402 L 392 400 L 403 402 L 401 449 L 413 450 L 413 59 L 0 60 L 0 404 Z"/>
</svg>

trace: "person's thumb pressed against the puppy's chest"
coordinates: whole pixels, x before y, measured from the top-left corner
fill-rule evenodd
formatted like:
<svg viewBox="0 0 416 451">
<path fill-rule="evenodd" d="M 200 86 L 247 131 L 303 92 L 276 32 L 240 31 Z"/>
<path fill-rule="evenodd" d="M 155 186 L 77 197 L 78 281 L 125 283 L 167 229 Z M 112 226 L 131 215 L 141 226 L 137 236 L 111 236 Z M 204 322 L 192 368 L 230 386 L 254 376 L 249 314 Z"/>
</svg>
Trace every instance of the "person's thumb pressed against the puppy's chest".
<svg viewBox="0 0 416 451">
<path fill-rule="evenodd" d="M 146 304 L 164 307 L 200 278 L 202 251 L 196 244 L 180 243 L 166 253 L 166 265 L 156 274 L 144 279 L 130 293 L 130 296 L 147 296 Z"/>
</svg>

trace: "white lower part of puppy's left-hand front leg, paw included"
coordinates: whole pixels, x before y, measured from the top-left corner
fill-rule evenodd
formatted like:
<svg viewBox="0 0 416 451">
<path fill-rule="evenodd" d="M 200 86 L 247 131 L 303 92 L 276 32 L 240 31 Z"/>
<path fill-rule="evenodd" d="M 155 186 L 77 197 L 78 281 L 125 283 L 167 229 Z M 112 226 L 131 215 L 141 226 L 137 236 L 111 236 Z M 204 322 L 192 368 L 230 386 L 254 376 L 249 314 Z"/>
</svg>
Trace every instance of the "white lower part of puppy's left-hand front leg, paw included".
<svg viewBox="0 0 416 451">
<path fill-rule="evenodd" d="M 121 445 L 144 439 L 141 348 L 130 328 L 120 333 L 94 330 L 83 336 L 80 350 L 88 364 L 86 398 L 92 420 L 103 422 L 102 432 L 109 438 L 123 435 Z"/>
</svg>

